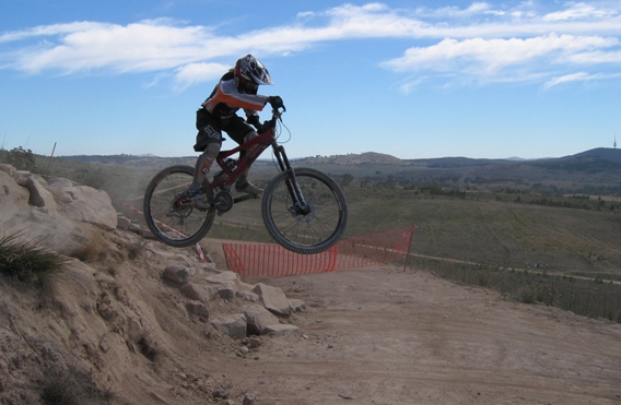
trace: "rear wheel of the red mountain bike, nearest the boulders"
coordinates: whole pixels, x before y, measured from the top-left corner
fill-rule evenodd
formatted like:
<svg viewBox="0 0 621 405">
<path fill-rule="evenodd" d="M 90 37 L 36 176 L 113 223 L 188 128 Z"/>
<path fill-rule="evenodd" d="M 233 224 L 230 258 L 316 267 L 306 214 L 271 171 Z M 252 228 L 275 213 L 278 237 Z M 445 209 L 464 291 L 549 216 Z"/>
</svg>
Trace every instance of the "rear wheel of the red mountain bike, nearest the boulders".
<svg viewBox="0 0 621 405">
<path fill-rule="evenodd" d="M 192 178 L 190 166 L 167 167 L 155 175 L 144 193 L 149 229 L 159 240 L 175 248 L 195 245 L 213 225 L 215 209 L 197 209 L 186 198 Z"/>
</svg>

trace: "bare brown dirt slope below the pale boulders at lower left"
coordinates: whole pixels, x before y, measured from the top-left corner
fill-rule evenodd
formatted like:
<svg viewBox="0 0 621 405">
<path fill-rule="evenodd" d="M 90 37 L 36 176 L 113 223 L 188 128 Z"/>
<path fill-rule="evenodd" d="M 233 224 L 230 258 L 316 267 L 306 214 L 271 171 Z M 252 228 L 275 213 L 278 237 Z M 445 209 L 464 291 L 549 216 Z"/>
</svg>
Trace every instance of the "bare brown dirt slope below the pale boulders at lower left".
<svg viewBox="0 0 621 405">
<path fill-rule="evenodd" d="M 247 346 L 190 313 L 192 300 L 162 278 L 171 262 L 194 269 L 196 259 L 127 233 L 99 243 L 43 290 L 2 279 L 0 403 L 198 404 L 241 395 L 230 393 L 220 365 Z M 214 298 L 210 317 L 239 305 Z"/>
</svg>

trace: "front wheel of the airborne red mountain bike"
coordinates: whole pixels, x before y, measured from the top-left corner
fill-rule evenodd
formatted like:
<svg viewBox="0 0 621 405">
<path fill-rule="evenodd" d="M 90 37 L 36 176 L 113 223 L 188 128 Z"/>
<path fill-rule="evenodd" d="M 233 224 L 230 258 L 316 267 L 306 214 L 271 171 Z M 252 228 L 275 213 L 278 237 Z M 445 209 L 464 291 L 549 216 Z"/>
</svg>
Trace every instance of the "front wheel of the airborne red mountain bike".
<svg viewBox="0 0 621 405">
<path fill-rule="evenodd" d="M 321 171 L 297 168 L 293 174 L 279 174 L 266 188 L 263 223 L 284 248 L 319 253 L 331 248 L 345 229 L 345 196 L 339 184 Z"/>
</svg>

